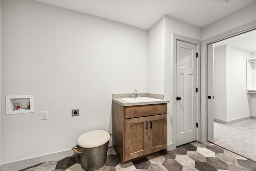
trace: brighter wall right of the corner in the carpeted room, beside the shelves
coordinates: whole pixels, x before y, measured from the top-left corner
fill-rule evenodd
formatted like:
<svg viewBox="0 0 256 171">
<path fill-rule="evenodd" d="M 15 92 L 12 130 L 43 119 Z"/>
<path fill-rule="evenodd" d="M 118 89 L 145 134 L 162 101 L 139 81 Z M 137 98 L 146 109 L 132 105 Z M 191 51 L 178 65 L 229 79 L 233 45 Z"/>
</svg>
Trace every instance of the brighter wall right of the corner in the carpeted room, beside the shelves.
<svg viewBox="0 0 256 171">
<path fill-rule="evenodd" d="M 246 93 L 246 59 L 251 53 L 227 46 L 227 120 L 250 116 L 251 97 Z"/>
</svg>

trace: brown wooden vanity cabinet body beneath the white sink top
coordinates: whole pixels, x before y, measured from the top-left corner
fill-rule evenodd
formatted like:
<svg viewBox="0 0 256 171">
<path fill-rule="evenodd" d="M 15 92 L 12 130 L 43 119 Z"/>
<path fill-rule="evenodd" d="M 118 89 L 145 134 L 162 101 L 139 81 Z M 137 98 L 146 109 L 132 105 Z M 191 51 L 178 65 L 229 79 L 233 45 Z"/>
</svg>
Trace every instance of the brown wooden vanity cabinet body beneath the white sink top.
<svg viewBox="0 0 256 171">
<path fill-rule="evenodd" d="M 167 104 L 124 107 L 113 102 L 112 136 L 121 164 L 167 151 Z"/>
</svg>

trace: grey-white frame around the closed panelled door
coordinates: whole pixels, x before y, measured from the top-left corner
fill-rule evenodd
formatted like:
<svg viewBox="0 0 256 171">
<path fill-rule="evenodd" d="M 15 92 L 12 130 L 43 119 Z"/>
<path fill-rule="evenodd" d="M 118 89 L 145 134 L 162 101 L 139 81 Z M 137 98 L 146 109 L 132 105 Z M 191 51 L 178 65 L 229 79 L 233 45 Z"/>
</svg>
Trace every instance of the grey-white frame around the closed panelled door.
<svg viewBox="0 0 256 171">
<path fill-rule="evenodd" d="M 196 44 L 197 46 L 197 53 L 198 53 L 198 59 L 197 59 L 197 75 L 196 75 L 196 85 L 198 87 L 198 93 L 197 93 L 197 112 L 196 112 L 196 118 L 197 118 L 197 123 L 198 123 L 198 128 L 197 128 L 197 141 L 201 141 L 201 92 L 200 92 L 200 86 L 201 86 L 201 41 L 196 40 L 193 38 L 188 38 L 186 36 L 181 36 L 179 34 L 173 34 L 173 39 L 172 39 L 172 149 L 176 149 L 176 47 L 177 47 L 177 40 L 183 41 L 183 42 L 188 42 L 191 44 Z"/>
</svg>

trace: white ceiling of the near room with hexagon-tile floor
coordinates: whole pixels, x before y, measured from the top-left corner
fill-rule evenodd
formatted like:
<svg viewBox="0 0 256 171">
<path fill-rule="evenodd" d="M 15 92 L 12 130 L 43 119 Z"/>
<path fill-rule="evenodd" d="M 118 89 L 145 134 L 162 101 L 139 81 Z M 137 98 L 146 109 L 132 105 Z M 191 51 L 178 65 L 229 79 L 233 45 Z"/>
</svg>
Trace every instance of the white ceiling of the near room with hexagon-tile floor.
<svg viewBox="0 0 256 171">
<path fill-rule="evenodd" d="M 36 0 L 148 30 L 162 16 L 204 27 L 256 0 Z"/>
</svg>

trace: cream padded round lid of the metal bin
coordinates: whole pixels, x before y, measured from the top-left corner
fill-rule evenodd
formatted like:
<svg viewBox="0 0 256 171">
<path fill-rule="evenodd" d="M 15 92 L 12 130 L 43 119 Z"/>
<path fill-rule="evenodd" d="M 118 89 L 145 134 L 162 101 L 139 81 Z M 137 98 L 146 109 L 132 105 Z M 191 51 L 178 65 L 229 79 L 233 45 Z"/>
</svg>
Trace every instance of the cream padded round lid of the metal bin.
<svg viewBox="0 0 256 171">
<path fill-rule="evenodd" d="M 104 130 L 94 130 L 83 133 L 78 137 L 77 144 L 83 148 L 94 148 L 105 144 L 110 139 L 110 134 Z"/>
</svg>

